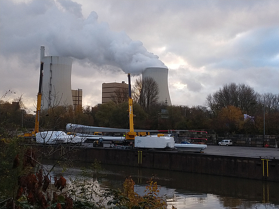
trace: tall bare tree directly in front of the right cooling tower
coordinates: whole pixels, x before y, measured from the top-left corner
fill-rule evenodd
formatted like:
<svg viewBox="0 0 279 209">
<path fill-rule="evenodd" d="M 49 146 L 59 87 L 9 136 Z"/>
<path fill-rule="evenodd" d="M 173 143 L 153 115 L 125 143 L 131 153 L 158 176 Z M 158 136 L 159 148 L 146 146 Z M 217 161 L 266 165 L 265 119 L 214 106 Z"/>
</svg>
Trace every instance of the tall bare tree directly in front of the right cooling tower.
<svg viewBox="0 0 279 209">
<path fill-rule="evenodd" d="M 133 97 L 135 102 L 148 111 L 152 105 L 158 103 L 159 86 L 151 77 L 136 79 L 133 85 Z"/>
</svg>

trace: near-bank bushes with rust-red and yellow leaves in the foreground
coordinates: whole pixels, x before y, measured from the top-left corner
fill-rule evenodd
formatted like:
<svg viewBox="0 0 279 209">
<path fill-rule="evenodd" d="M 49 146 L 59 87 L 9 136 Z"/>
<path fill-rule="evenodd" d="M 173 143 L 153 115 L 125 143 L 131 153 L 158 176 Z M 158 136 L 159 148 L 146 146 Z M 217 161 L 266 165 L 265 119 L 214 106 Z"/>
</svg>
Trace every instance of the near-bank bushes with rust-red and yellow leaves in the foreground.
<svg viewBox="0 0 279 209">
<path fill-rule="evenodd" d="M 52 172 L 40 163 L 38 151 L 18 138 L 0 138 L 0 208 L 2 209 L 166 209 L 160 186 L 151 177 L 145 194 L 134 192 L 134 181 L 127 178 L 116 190 L 98 189 L 96 174 L 101 169 L 95 161 L 82 175 L 70 177 Z M 67 164 L 68 165 L 68 164 Z M 175 208 L 175 207 L 173 207 Z"/>
</svg>

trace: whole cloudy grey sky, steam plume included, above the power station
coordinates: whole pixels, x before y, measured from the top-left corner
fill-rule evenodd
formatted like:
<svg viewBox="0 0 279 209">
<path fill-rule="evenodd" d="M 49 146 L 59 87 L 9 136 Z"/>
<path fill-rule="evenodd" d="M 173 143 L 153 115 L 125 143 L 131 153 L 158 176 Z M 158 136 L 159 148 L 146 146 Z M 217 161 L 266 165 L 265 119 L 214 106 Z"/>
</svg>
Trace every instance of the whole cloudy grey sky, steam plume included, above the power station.
<svg viewBox="0 0 279 209">
<path fill-rule="evenodd" d="M 35 110 L 40 46 L 73 59 L 72 89 L 167 66 L 172 104 L 203 105 L 224 84 L 279 93 L 279 0 L 0 0 L 0 97 Z"/>
</svg>

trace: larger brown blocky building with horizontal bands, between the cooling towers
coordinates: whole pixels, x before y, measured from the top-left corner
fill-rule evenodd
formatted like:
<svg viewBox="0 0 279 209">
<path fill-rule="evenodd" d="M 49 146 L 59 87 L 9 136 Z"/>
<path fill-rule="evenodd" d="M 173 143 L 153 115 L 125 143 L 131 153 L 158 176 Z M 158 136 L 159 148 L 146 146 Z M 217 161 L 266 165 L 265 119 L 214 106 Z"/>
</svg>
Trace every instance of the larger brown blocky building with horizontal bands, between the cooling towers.
<svg viewBox="0 0 279 209">
<path fill-rule="evenodd" d="M 128 84 L 121 83 L 102 83 L 102 104 L 108 102 L 128 101 Z"/>
</svg>

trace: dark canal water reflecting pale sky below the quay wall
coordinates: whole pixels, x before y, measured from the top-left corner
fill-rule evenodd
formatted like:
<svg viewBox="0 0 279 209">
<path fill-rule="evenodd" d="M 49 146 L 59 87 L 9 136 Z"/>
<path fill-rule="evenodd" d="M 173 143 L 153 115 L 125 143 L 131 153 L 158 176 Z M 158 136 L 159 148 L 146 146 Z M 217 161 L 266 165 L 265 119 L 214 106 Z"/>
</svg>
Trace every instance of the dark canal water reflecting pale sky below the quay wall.
<svg viewBox="0 0 279 209">
<path fill-rule="evenodd" d="M 91 164 L 79 164 L 90 167 Z M 66 179 L 80 173 L 80 167 L 57 167 L 51 175 L 62 174 Z M 279 209 L 279 183 L 262 180 L 147 169 L 102 164 L 94 181 L 98 188 L 121 188 L 128 177 L 136 183 L 134 191 L 144 195 L 148 179 L 161 186 L 168 209 Z M 67 181 L 68 182 L 68 181 Z"/>
</svg>

